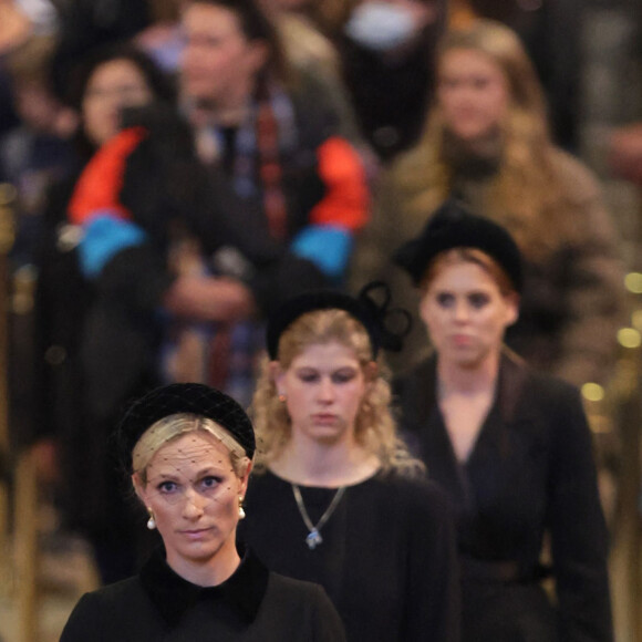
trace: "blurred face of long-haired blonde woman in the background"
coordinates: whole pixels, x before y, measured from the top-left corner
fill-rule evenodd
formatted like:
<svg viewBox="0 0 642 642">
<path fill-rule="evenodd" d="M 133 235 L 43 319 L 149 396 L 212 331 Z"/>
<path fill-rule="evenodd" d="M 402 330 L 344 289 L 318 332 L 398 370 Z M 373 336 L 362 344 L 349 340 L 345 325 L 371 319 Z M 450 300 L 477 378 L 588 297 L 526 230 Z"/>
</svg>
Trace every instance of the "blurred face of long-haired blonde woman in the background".
<svg viewBox="0 0 642 642">
<path fill-rule="evenodd" d="M 474 143 L 497 131 L 508 115 L 508 82 L 488 55 L 472 49 L 451 49 L 437 68 L 437 101 L 444 126 Z"/>
</svg>

